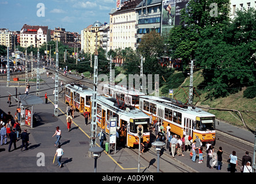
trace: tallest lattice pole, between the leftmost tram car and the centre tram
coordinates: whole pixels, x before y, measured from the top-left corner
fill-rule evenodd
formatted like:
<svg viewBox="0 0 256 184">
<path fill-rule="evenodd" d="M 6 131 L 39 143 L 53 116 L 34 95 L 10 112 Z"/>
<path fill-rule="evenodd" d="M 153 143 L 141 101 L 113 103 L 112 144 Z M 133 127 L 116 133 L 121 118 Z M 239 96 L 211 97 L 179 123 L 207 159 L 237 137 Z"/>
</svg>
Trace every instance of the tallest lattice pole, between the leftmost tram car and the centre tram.
<svg viewBox="0 0 256 184">
<path fill-rule="evenodd" d="M 97 51 L 97 32 L 96 32 L 96 48 L 95 60 L 93 68 L 93 92 L 92 92 L 92 118 L 91 118 L 91 143 L 90 148 L 96 146 L 96 132 L 97 132 L 97 76 L 98 75 L 98 51 Z"/>
</svg>

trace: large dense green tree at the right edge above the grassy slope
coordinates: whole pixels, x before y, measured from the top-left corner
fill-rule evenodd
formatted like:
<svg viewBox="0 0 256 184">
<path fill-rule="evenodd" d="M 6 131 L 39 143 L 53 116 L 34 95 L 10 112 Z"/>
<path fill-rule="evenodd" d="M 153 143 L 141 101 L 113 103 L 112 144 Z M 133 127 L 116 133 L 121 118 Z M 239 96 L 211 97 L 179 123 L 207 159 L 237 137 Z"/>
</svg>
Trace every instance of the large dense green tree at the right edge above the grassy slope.
<svg viewBox="0 0 256 184">
<path fill-rule="evenodd" d="M 255 81 L 256 11 L 238 11 L 232 21 L 205 26 L 196 61 L 204 67 L 205 89 L 225 97 Z"/>
</svg>

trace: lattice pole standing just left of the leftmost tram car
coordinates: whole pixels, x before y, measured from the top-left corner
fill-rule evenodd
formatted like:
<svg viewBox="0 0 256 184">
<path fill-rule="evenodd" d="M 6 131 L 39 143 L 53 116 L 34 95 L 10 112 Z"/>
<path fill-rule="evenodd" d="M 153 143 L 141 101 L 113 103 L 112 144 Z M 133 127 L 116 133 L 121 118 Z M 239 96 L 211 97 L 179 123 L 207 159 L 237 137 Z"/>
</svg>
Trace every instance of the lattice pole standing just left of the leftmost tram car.
<svg viewBox="0 0 256 184">
<path fill-rule="evenodd" d="M 58 49 L 58 39 L 56 47 L 56 63 L 55 63 L 55 93 L 54 93 L 54 116 L 58 117 L 58 102 L 59 102 L 59 49 Z"/>
</svg>

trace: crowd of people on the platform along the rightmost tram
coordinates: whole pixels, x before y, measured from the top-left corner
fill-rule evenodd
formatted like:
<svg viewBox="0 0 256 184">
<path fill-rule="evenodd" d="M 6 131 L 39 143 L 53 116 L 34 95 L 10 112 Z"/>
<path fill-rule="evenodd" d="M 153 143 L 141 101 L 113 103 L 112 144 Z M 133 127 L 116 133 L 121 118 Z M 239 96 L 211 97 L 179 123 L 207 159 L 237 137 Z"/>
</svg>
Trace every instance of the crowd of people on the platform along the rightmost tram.
<svg viewBox="0 0 256 184">
<path fill-rule="evenodd" d="M 156 141 L 165 141 L 166 148 L 170 152 L 172 158 L 175 156 L 185 156 L 183 152 L 189 150 L 190 158 L 192 162 L 203 163 L 206 160 L 206 167 L 208 168 L 216 168 L 217 170 L 221 170 L 223 164 L 223 148 L 219 147 L 217 152 L 214 152 L 214 147 L 210 143 L 205 144 L 205 152 L 202 145 L 202 141 L 198 136 L 195 135 L 196 139 L 192 139 L 192 137 L 183 132 L 183 136 L 179 137 L 177 135 L 172 135 L 170 124 L 164 128 L 163 124 L 153 121 L 153 129 L 152 132 L 155 132 Z M 206 159 L 204 157 L 204 153 L 206 154 Z M 238 166 L 238 158 L 236 156 L 236 152 L 232 151 L 232 154 L 229 155 L 229 159 L 227 160 L 228 167 L 227 170 L 231 173 L 235 173 L 236 166 Z M 240 167 L 241 173 L 251 173 L 251 157 L 249 156 L 249 152 L 246 151 L 246 155 L 242 158 L 242 166 Z"/>
</svg>

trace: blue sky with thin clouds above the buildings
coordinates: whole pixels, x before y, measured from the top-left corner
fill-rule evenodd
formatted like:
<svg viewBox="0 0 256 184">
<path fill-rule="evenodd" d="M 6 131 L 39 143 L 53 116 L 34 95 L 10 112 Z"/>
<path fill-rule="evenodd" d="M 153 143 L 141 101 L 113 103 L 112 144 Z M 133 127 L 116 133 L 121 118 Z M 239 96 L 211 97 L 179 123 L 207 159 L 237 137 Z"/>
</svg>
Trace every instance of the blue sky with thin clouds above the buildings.
<svg viewBox="0 0 256 184">
<path fill-rule="evenodd" d="M 0 28 L 21 30 L 24 24 L 78 32 L 96 21 L 110 22 L 115 0 L 0 0 Z"/>
</svg>

